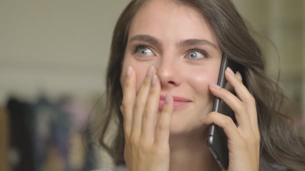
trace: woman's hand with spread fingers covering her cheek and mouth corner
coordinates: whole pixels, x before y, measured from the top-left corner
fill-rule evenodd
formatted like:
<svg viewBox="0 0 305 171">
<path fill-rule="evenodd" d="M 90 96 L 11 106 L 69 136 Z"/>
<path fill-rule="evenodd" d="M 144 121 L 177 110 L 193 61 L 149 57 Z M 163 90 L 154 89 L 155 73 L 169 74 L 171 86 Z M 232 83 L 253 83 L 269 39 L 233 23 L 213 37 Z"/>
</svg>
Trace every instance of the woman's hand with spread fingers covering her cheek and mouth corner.
<svg viewBox="0 0 305 171">
<path fill-rule="evenodd" d="M 129 171 L 168 171 L 170 165 L 170 124 L 173 99 L 167 95 L 158 117 L 161 86 L 150 66 L 136 95 L 133 69 L 127 68 L 121 111 L 124 117 L 124 158 Z M 159 118 L 159 119 L 158 119 Z"/>
</svg>

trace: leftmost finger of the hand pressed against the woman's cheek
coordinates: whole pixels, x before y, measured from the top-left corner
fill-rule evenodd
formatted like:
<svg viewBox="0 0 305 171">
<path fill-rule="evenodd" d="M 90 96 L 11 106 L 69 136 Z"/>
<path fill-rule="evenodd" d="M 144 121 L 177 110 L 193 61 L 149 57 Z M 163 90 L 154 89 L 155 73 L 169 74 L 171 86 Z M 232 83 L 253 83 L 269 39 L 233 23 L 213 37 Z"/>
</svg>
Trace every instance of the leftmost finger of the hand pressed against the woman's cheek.
<svg viewBox="0 0 305 171">
<path fill-rule="evenodd" d="M 135 99 L 135 75 L 131 66 L 127 67 L 124 86 L 123 86 L 123 100 L 121 105 L 121 112 L 123 115 L 123 127 L 125 136 L 129 136 L 132 128 L 133 102 Z"/>
</svg>

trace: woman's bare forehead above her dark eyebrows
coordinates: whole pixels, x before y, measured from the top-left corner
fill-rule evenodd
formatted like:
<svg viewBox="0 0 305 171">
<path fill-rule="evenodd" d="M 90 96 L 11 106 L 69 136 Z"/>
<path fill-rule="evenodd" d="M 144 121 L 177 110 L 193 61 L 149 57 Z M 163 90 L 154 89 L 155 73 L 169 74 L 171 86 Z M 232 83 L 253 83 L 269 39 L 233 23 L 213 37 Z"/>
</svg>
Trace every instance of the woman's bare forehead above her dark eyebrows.
<svg viewBox="0 0 305 171">
<path fill-rule="evenodd" d="M 128 37 L 148 34 L 161 40 L 202 38 L 217 44 L 205 17 L 195 7 L 173 0 L 149 0 L 132 19 Z"/>
</svg>

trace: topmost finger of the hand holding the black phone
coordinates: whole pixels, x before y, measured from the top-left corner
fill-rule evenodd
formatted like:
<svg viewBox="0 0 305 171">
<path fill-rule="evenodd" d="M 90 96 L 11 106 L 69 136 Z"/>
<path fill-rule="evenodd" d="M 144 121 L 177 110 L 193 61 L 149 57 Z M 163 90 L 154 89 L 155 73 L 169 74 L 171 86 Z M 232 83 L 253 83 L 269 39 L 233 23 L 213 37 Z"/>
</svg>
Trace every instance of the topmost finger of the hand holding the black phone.
<svg viewBox="0 0 305 171">
<path fill-rule="evenodd" d="M 246 104 L 246 109 L 249 114 L 251 126 L 256 132 L 255 134 L 259 134 L 255 99 L 249 92 L 247 87 L 242 83 L 241 74 L 239 72 L 236 72 L 236 74 L 232 74 L 232 72 L 232 69 L 230 69 L 229 67 L 226 69 L 226 79 L 233 86 L 236 95 L 241 99 L 243 103 Z"/>
</svg>

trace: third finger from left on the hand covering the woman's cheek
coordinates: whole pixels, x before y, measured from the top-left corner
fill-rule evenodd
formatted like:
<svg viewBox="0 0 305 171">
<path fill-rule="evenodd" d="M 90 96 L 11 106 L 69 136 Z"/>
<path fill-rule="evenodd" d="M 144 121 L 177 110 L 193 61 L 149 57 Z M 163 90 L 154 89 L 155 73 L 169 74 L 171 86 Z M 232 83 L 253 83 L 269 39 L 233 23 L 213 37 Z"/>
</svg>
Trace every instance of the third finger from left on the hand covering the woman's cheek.
<svg viewBox="0 0 305 171">
<path fill-rule="evenodd" d="M 148 143 L 153 143 L 155 139 L 160 91 L 158 76 L 154 75 L 151 79 L 150 91 L 142 118 L 141 138 Z"/>
</svg>

